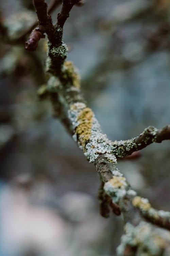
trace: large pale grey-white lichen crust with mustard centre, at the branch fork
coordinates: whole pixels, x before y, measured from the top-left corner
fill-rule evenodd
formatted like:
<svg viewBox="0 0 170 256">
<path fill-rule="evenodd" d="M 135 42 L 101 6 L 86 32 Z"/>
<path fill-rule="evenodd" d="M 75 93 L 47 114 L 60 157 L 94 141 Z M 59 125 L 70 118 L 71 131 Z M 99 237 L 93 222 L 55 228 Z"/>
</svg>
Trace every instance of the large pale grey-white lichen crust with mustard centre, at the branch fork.
<svg viewBox="0 0 170 256">
<path fill-rule="evenodd" d="M 113 154 L 112 141 L 102 133 L 90 108 L 84 103 L 76 102 L 71 105 L 68 116 L 75 131 L 73 139 L 78 142 L 89 162 L 94 162 L 101 154 L 112 163 L 117 162 Z"/>
</svg>

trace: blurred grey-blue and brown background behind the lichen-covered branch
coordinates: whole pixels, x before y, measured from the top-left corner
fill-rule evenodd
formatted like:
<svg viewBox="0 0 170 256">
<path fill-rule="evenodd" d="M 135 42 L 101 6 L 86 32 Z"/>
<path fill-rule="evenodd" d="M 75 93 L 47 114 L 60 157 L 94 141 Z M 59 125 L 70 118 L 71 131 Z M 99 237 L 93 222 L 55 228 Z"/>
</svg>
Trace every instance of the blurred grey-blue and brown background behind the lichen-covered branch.
<svg viewBox="0 0 170 256">
<path fill-rule="evenodd" d="M 1 1 L 0 8 L 11 38 L 36 20 L 31 0 Z M 46 40 L 28 53 L 1 35 L 0 255 L 116 255 L 121 216 L 100 216 L 95 167 L 53 118 L 50 102 L 37 97 L 46 83 Z M 86 0 L 71 10 L 64 42 L 109 139 L 170 123 L 169 0 Z M 169 141 L 118 163 L 132 187 L 163 210 L 170 210 L 169 166 Z"/>
</svg>

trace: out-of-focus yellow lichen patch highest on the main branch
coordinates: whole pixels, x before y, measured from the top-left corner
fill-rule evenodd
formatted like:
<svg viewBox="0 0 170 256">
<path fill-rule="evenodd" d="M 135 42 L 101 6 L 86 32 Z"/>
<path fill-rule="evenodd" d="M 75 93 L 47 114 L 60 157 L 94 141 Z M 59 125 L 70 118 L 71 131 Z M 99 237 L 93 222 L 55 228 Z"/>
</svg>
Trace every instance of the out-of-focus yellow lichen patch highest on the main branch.
<svg viewBox="0 0 170 256">
<path fill-rule="evenodd" d="M 71 79 L 72 85 L 80 88 L 80 76 L 77 74 L 72 61 L 64 62 L 64 79 Z"/>
</svg>

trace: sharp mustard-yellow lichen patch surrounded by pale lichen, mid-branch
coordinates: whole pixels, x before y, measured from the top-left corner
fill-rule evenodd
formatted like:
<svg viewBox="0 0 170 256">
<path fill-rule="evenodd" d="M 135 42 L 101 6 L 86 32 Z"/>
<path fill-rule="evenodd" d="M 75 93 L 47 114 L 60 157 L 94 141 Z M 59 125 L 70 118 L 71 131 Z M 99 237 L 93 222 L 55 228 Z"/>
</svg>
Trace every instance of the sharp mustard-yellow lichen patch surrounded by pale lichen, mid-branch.
<svg viewBox="0 0 170 256">
<path fill-rule="evenodd" d="M 91 136 L 91 128 L 92 128 L 92 117 L 94 117 L 93 112 L 90 108 L 84 108 L 78 118 L 77 121 L 79 125 L 75 129 L 75 133 L 79 136 L 80 143 L 83 145 L 87 140 L 89 140 Z"/>
</svg>

